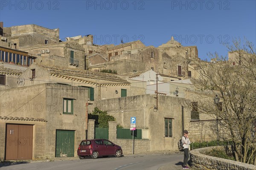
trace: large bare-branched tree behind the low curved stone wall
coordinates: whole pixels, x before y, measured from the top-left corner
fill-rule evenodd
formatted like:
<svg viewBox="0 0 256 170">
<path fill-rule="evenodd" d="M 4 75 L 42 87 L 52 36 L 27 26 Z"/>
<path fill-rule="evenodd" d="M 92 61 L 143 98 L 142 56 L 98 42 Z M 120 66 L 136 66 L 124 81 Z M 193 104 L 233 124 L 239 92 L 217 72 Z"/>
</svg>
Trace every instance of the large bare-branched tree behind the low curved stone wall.
<svg viewBox="0 0 256 170">
<path fill-rule="evenodd" d="M 212 62 L 196 61 L 196 86 L 208 92 L 198 111 L 218 118 L 233 141 L 236 161 L 256 165 L 256 54 L 251 42 L 233 40 L 229 57 L 211 54 Z M 205 94 L 205 93 L 204 93 Z M 215 105 L 215 94 L 221 105 Z"/>
</svg>

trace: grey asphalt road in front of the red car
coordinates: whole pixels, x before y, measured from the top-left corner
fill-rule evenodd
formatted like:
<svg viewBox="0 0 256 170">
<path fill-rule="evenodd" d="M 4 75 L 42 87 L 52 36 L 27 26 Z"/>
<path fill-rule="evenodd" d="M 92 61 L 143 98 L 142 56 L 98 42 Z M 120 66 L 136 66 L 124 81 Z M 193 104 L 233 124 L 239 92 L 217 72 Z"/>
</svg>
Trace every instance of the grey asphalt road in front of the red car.
<svg viewBox="0 0 256 170">
<path fill-rule="evenodd" d="M 183 154 L 122 156 L 0 165 L 1 170 L 182 170 Z"/>
</svg>

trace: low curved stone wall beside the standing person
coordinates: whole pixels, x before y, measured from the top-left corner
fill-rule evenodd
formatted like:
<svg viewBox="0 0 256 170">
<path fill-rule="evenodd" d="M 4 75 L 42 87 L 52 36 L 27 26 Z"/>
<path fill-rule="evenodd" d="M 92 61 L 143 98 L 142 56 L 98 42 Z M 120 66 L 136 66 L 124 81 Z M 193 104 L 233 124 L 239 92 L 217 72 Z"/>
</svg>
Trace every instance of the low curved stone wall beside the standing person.
<svg viewBox="0 0 256 170">
<path fill-rule="evenodd" d="M 212 149 L 225 150 L 225 147 L 215 146 L 191 150 L 191 165 L 201 170 L 256 170 L 256 166 L 252 164 L 204 155 L 205 152 Z"/>
</svg>

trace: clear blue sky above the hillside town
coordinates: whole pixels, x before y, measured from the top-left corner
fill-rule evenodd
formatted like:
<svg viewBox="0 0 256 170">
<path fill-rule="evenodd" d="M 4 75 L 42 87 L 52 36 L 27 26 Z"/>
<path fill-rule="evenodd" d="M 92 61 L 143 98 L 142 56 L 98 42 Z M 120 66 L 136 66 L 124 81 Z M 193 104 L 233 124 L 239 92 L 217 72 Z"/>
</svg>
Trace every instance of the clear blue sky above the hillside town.
<svg viewBox="0 0 256 170">
<path fill-rule="evenodd" d="M 142 40 L 155 47 L 172 36 L 196 45 L 198 57 L 227 55 L 223 42 L 240 37 L 256 45 L 256 0 L 0 0 L 4 27 L 59 28 L 60 38 L 94 35 L 96 44 Z"/>
</svg>

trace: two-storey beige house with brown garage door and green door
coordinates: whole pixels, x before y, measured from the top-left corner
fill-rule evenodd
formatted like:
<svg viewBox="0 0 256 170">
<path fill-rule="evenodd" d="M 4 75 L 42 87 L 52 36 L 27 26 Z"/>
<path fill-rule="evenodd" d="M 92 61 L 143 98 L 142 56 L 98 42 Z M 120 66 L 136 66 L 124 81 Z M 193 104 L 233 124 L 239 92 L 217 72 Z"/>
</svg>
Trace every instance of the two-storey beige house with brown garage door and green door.
<svg viewBox="0 0 256 170">
<path fill-rule="evenodd" d="M 52 83 L 1 91 L 0 159 L 76 156 L 85 138 L 87 91 Z"/>
</svg>

